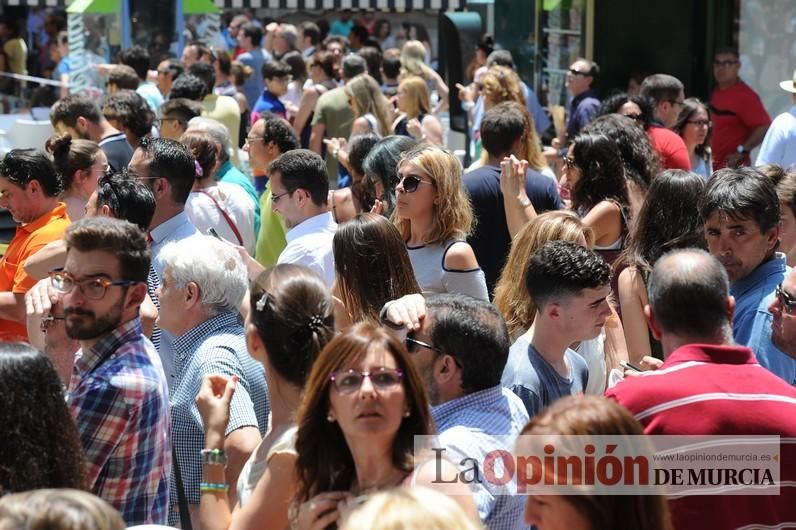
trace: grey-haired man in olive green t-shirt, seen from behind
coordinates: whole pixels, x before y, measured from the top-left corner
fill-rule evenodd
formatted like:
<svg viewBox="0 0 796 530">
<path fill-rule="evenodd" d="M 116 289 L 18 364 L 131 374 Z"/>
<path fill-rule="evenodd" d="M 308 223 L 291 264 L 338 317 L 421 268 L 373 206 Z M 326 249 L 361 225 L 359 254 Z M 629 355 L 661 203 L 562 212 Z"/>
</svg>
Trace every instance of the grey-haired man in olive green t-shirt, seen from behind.
<svg viewBox="0 0 796 530">
<path fill-rule="evenodd" d="M 364 74 L 367 70 L 365 59 L 359 55 L 348 54 L 343 58 L 343 81 L 346 83 Z M 348 94 L 344 87 L 329 90 L 318 98 L 315 104 L 315 114 L 312 117 L 312 132 L 310 133 L 310 149 L 323 156 L 324 138 L 348 138 L 351 136 L 351 126 L 354 123 L 354 112 L 348 104 Z M 326 152 L 326 172 L 332 187 L 337 187 L 337 172 L 339 166 L 337 158 L 332 153 Z"/>
</svg>

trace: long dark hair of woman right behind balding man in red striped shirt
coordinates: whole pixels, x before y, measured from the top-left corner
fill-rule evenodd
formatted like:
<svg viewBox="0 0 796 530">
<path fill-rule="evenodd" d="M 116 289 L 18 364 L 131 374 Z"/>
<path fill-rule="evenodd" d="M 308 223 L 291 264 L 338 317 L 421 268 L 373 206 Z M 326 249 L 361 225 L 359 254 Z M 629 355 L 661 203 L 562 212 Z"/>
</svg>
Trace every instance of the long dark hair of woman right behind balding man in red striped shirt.
<svg viewBox="0 0 796 530">
<path fill-rule="evenodd" d="M 695 173 L 672 169 L 658 175 L 647 191 L 624 261 L 649 273 L 670 250 L 706 248 L 703 222 L 695 214 L 704 190 L 705 179 Z"/>
</svg>

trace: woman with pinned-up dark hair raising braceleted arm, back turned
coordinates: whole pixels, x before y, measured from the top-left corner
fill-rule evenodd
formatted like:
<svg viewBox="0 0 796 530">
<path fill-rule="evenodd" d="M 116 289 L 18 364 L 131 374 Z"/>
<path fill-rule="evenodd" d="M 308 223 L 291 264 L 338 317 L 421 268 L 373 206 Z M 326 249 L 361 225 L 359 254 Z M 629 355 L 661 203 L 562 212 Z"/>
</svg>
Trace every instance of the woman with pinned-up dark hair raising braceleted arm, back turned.
<svg viewBox="0 0 796 530">
<path fill-rule="evenodd" d="M 246 343 L 252 357 L 265 368 L 270 426 L 241 470 L 234 507 L 224 491 L 206 488 L 202 493 L 202 528 L 282 530 L 288 526 L 288 506 L 297 484 L 296 411 L 312 364 L 334 335 L 329 292 L 318 276 L 300 265 L 265 270 L 252 282 L 250 303 Z M 196 400 L 206 449 L 223 447 L 235 388 L 234 381 L 222 376 L 209 376 L 202 383 Z M 202 481 L 224 484 L 223 465 L 204 465 Z"/>
</svg>

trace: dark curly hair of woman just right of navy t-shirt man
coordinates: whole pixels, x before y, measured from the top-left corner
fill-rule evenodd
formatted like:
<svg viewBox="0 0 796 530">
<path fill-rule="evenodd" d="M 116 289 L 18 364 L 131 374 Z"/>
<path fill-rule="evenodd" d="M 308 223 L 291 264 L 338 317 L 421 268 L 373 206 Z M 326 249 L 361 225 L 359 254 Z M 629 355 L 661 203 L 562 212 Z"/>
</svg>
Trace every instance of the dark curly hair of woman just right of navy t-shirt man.
<svg viewBox="0 0 796 530">
<path fill-rule="evenodd" d="M 572 142 L 575 165 L 581 177 L 572 189 L 572 209 L 591 210 L 605 200 L 628 207 L 622 156 L 616 143 L 604 134 L 581 132 Z"/>
</svg>

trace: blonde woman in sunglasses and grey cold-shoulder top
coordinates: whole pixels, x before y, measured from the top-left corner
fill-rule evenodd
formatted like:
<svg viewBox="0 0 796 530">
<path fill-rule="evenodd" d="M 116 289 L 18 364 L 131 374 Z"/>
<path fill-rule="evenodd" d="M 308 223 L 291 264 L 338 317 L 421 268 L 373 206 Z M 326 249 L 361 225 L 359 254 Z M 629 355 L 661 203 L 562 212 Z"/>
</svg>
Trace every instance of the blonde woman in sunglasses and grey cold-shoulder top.
<svg viewBox="0 0 796 530">
<path fill-rule="evenodd" d="M 402 155 L 398 179 L 392 221 L 423 292 L 488 300 L 484 271 L 466 241 L 473 208 L 459 160 L 441 147 L 421 144 Z"/>
</svg>

